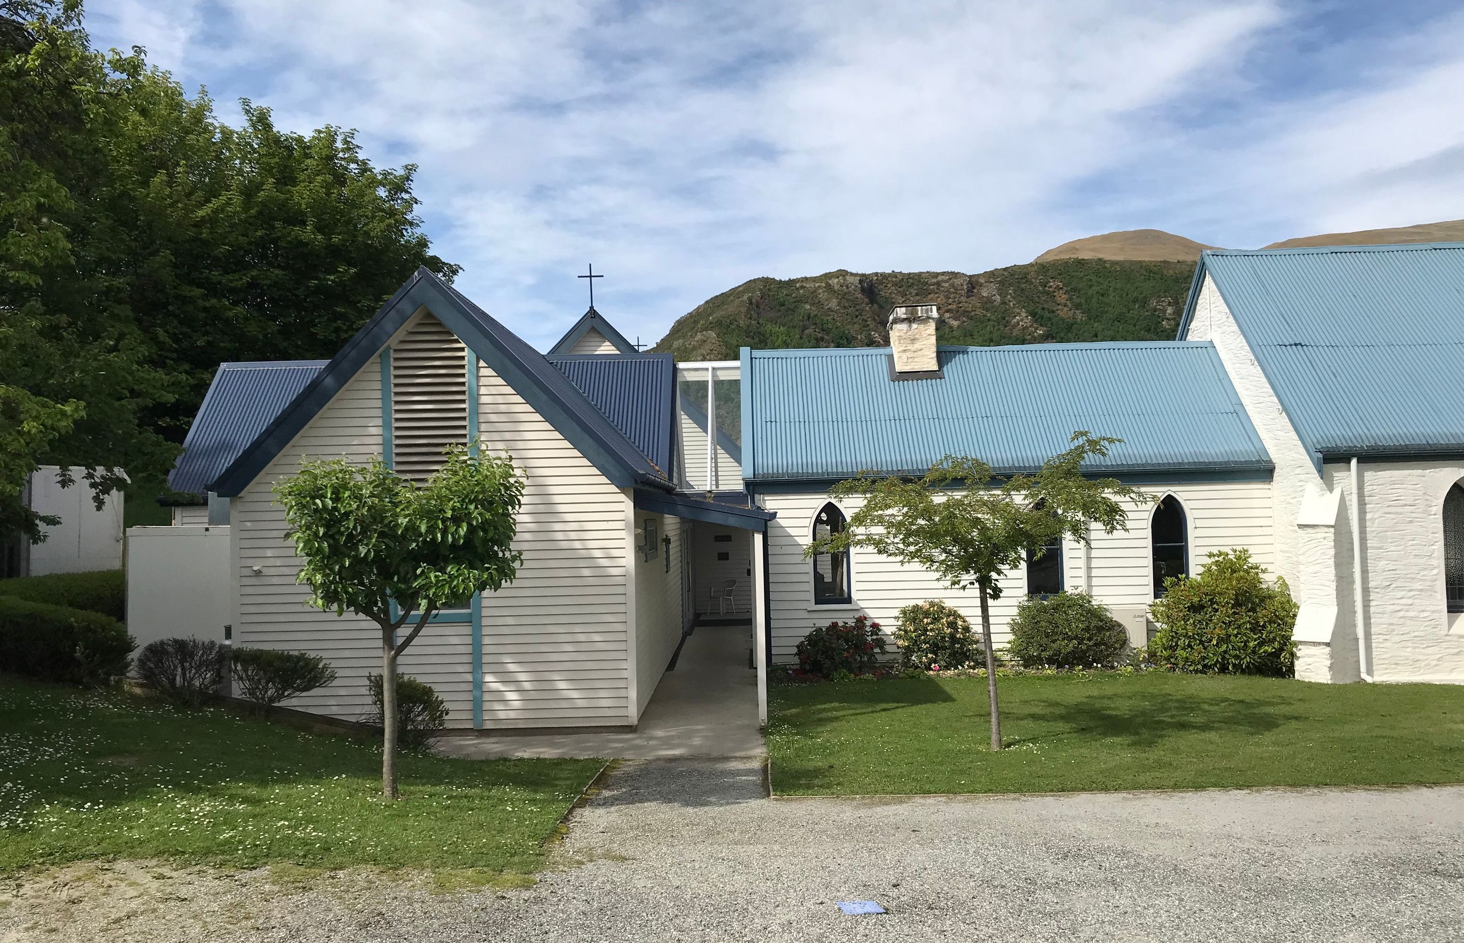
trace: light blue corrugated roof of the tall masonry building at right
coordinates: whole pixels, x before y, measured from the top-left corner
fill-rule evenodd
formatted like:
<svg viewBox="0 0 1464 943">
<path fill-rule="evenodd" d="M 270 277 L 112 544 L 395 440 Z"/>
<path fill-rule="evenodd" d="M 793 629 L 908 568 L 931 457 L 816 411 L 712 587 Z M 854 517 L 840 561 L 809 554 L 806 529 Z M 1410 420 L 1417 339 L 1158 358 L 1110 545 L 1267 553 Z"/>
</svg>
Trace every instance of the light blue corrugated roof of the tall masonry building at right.
<svg viewBox="0 0 1464 943">
<path fill-rule="evenodd" d="M 1464 451 L 1464 243 L 1208 250 L 1206 272 L 1318 463 Z"/>
</svg>

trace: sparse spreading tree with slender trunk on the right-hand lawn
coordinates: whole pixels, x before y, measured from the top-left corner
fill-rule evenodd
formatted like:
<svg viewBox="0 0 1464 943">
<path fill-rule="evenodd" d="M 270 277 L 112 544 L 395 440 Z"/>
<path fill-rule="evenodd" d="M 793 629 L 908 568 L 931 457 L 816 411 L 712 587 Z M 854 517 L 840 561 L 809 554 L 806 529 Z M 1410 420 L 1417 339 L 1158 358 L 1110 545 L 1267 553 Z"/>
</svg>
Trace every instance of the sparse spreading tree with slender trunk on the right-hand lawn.
<svg viewBox="0 0 1464 943">
<path fill-rule="evenodd" d="M 947 455 L 918 479 L 859 477 L 833 486 L 834 498 L 858 504 L 842 533 L 814 540 L 804 556 L 864 546 L 922 567 L 953 589 L 975 587 L 981 599 L 981 634 L 991 700 L 991 748 L 1001 748 L 996 655 L 991 649 L 990 600 L 1001 597 L 1000 575 L 1022 565 L 1028 548 L 1063 537 L 1088 542 L 1091 524 L 1105 533 L 1127 529 L 1120 501 L 1146 499 L 1116 479 L 1089 479 L 1083 460 L 1107 455 L 1121 439 L 1075 432 L 1066 451 L 1035 474 L 1001 479 L 979 458 Z"/>
</svg>

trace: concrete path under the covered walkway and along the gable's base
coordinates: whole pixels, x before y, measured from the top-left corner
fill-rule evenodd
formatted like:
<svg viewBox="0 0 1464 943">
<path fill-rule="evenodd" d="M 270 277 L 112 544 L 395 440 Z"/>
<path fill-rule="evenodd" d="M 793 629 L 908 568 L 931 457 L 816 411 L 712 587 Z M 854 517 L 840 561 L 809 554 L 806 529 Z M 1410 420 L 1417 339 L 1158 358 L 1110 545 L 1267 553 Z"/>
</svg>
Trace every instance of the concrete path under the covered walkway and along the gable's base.
<svg viewBox="0 0 1464 943">
<path fill-rule="evenodd" d="M 479 734 L 445 737 L 438 753 L 489 757 L 760 757 L 757 672 L 747 666 L 751 630 L 701 625 L 666 672 L 630 734 Z"/>
</svg>

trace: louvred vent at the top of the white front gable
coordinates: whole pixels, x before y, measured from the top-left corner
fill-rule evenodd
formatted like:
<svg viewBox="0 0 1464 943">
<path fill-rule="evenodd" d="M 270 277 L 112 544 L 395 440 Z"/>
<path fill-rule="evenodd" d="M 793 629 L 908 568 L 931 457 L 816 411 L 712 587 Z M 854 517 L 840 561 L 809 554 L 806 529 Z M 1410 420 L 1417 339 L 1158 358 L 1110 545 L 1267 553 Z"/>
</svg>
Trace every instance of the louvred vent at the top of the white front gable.
<svg viewBox="0 0 1464 943">
<path fill-rule="evenodd" d="M 423 315 L 391 348 L 392 467 L 423 480 L 442 467 L 442 450 L 467 441 L 467 350 Z"/>
</svg>

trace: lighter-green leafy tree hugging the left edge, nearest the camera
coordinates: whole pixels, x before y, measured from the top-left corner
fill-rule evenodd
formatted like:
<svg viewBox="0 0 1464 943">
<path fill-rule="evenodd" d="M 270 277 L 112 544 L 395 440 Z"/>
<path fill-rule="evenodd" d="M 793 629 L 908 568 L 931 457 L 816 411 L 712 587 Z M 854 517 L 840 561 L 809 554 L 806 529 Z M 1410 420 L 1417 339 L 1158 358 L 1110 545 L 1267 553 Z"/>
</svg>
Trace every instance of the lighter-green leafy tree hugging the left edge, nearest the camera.
<svg viewBox="0 0 1464 943">
<path fill-rule="evenodd" d="M 101 502 L 123 469 L 161 476 L 177 452 L 142 422 L 173 387 L 95 252 L 119 116 L 108 76 L 78 1 L 0 0 L 0 527 L 32 539 L 56 523 L 20 502 L 40 464 L 83 467 Z"/>
</svg>

